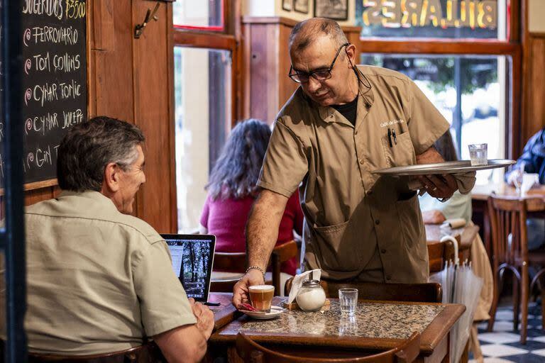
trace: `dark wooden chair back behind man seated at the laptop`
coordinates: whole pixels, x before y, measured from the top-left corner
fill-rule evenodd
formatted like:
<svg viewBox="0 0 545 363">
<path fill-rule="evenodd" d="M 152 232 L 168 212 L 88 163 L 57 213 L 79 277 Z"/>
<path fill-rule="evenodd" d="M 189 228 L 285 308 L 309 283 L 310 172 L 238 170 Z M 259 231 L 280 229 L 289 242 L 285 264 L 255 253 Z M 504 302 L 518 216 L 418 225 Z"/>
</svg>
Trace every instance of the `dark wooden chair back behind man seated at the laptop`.
<svg viewBox="0 0 545 363">
<path fill-rule="evenodd" d="M 1 344 L 0 362 L 4 362 L 4 342 Z M 28 353 L 28 363 L 60 362 L 60 363 L 167 363 L 155 342 L 148 342 L 121 352 L 92 355 L 57 355 Z"/>
</svg>

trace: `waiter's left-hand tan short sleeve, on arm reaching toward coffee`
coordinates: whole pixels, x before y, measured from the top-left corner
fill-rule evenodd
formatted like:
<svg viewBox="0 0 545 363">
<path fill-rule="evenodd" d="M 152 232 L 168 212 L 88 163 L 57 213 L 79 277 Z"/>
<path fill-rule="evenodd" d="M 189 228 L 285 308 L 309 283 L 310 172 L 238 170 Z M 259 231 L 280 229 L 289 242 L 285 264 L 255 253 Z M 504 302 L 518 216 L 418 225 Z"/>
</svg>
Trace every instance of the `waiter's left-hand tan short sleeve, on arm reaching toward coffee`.
<svg viewBox="0 0 545 363">
<path fill-rule="evenodd" d="M 309 167 L 302 141 L 281 119 L 272 130 L 258 186 L 290 198 Z"/>
</svg>

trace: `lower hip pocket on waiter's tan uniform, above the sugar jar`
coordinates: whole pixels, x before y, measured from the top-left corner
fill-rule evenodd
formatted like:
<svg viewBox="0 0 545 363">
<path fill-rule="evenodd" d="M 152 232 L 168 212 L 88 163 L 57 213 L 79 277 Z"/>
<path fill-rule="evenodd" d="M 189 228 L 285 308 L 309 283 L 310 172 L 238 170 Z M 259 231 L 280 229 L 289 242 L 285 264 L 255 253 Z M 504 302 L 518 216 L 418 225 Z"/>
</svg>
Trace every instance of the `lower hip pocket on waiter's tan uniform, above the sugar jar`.
<svg viewBox="0 0 545 363">
<path fill-rule="evenodd" d="M 360 253 L 353 236 L 346 233 L 348 222 L 323 227 L 314 226 L 316 245 L 321 255 L 321 267 L 329 271 L 358 271 Z"/>
</svg>

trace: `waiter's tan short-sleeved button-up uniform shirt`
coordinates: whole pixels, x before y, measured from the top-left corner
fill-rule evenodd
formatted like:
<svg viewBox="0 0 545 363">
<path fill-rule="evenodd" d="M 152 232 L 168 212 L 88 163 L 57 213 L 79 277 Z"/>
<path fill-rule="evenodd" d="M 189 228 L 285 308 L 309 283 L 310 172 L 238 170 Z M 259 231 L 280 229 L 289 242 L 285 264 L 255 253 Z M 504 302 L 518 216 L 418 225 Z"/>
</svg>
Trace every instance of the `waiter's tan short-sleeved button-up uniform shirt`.
<svg viewBox="0 0 545 363">
<path fill-rule="evenodd" d="M 287 197 L 300 184 L 307 269 L 321 268 L 326 279 L 424 282 L 417 196 L 406 179 L 371 171 L 415 164 L 449 125 L 408 77 L 358 69 L 356 125 L 299 87 L 278 113 L 258 184 Z M 396 133 L 392 147 L 388 128 Z M 373 269 L 380 274 L 365 276 Z"/>
</svg>

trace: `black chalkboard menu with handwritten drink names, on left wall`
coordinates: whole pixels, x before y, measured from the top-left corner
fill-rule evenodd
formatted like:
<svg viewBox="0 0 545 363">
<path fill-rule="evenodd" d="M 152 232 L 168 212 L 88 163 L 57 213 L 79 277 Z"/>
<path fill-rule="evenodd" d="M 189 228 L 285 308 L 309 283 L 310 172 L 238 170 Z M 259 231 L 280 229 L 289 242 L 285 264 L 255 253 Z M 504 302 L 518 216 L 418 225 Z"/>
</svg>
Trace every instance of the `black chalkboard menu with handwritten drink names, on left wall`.
<svg viewBox="0 0 545 363">
<path fill-rule="evenodd" d="M 87 4 L 18 1 L 23 23 L 23 166 L 25 182 L 31 183 L 57 177 L 60 140 L 87 119 Z M 0 143 L 3 126 L 0 120 Z M 2 160 L 0 154 L 4 173 Z"/>
</svg>

